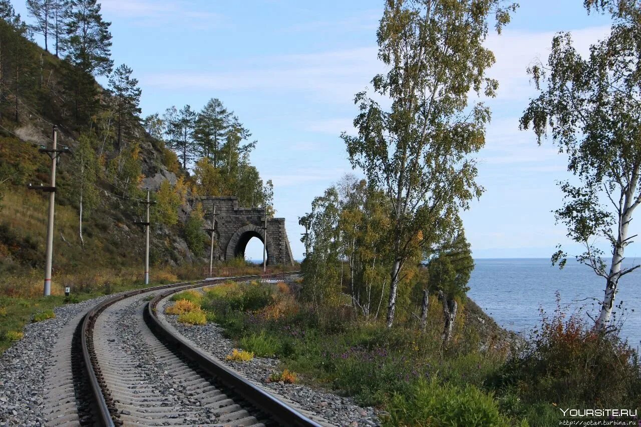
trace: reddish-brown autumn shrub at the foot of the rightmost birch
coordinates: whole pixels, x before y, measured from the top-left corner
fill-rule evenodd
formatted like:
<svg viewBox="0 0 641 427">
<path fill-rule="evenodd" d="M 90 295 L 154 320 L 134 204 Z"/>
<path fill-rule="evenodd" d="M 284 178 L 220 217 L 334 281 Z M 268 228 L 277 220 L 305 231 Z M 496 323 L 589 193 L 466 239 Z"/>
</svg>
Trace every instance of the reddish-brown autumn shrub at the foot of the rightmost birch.
<svg viewBox="0 0 641 427">
<path fill-rule="evenodd" d="M 637 352 L 627 342 L 597 333 L 579 314 L 568 316 L 557 303 L 552 317 L 544 315 L 529 346 L 513 355 L 490 384 L 515 387 L 528 403 L 627 407 L 641 399 L 640 367 Z"/>
</svg>

